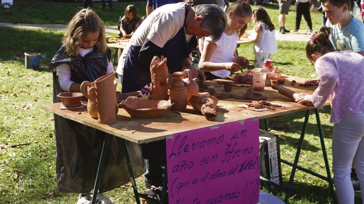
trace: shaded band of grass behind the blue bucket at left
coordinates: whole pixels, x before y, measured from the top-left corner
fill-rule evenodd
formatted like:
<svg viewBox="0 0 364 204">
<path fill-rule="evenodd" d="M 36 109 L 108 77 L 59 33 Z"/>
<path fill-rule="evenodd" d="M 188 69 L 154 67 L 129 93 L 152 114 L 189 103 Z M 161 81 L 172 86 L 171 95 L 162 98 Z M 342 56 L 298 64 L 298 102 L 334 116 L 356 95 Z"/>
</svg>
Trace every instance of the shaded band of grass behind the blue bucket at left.
<svg viewBox="0 0 364 204">
<path fill-rule="evenodd" d="M 62 45 L 62 37 L 63 32 L 59 31 L 1 28 L 0 39 L 6 43 L 2 43 L 0 59 L 25 66 L 24 52 L 39 52 L 43 57 L 36 71 L 48 71 L 53 55 Z"/>
</svg>

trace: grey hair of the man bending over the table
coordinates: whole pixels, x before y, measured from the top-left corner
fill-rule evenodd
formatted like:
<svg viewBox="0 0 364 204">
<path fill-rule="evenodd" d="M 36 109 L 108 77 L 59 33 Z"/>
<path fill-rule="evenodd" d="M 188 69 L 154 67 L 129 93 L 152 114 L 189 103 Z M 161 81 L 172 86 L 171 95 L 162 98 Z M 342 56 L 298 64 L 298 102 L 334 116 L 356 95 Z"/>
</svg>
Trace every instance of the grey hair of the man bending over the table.
<svg viewBox="0 0 364 204">
<path fill-rule="evenodd" d="M 196 16 L 202 17 L 201 28 L 211 32 L 211 39 L 220 39 L 226 28 L 226 14 L 214 4 L 201 4 L 193 7 Z"/>
</svg>

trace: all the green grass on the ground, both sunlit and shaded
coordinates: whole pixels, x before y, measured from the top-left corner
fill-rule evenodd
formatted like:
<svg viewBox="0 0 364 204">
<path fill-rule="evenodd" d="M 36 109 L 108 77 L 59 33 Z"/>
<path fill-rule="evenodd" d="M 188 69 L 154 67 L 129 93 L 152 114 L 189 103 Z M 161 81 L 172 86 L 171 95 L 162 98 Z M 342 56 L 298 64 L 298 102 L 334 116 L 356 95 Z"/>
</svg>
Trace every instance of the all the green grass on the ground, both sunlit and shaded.
<svg viewBox="0 0 364 204">
<path fill-rule="evenodd" d="M 95 3 L 100 16 L 109 25 L 117 23 L 118 16 L 127 4 L 135 3 L 138 11 L 144 2 L 119 2 L 113 11 L 101 10 Z M 0 22 L 13 23 L 59 23 L 66 24 L 82 3 L 61 3 L 45 0 L 15 1 L 12 9 L 0 9 Z M 294 7 L 292 6 L 291 9 Z M 271 17 L 278 13 L 277 6 L 268 6 Z M 319 24 L 321 14 L 313 13 L 314 24 Z M 8 16 L 11 16 L 9 18 Z M 288 18 L 288 29 L 294 28 L 294 11 Z M 108 21 L 107 19 L 112 19 Z M 272 17 L 277 24 L 276 17 Z M 316 19 L 316 20 L 315 20 Z M 302 23 L 305 23 L 303 21 Z M 302 24 L 302 29 L 305 25 Z M 315 25 L 314 28 L 317 28 Z M 0 39 L 0 203 L 1 204 L 74 204 L 76 194 L 57 190 L 55 178 L 55 143 L 53 116 L 41 109 L 43 104 L 52 103 L 52 73 L 48 63 L 61 45 L 63 32 L 50 30 L 21 30 L 1 28 Z M 302 78 L 315 77 L 314 68 L 305 56 L 306 42 L 278 41 L 278 52 L 274 65 L 284 74 Z M 39 70 L 24 68 L 24 52 L 41 52 Z M 254 59 L 253 44 L 238 48 L 242 56 Z M 114 53 L 114 51 L 112 52 Z M 320 111 L 325 145 L 331 165 L 332 127 L 329 123 L 330 108 Z M 280 139 L 281 158 L 293 161 L 305 113 L 295 113 L 268 120 L 269 130 Z M 320 150 L 316 121 L 310 117 L 307 134 L 299 164 L 325 175 Z M 17 146 L 18 144 L 26 144 Z M 13 146 L 12 146 L 13 145 Z M 284 185 L 288 185 L 291 167 L 282 164 Z M 332 174 L 331 174 L 332 175 Z M 143 177 L 137 179 L 139 189 Z M 267 189 L 265 189 L 267 190 Z M 268 192 L 284 199 L 279 190 Z M 115 204 L 133 204 L 133 190 L 125 185 L 106 193 Z M 332 204 L 328 183 L 309 174 L 297 171 L 290 203 Z M 356 194 L 356 204 L 361 203 Z"/>
</svg>

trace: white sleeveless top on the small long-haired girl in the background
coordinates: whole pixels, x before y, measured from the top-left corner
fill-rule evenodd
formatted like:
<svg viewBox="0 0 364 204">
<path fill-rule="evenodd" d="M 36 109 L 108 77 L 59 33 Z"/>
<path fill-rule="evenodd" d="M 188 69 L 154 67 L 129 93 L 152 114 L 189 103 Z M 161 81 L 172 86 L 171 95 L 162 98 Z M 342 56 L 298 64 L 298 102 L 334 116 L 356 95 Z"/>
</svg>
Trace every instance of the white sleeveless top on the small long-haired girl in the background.
<svg viewBox="0 0 364 204">
<path fill-rule="evenodd" d="M 275 41 L 275 30 L 269 31 L 268 26 L 263 24 L 261 26 L 262 34 L 260 42 L 254 46 L 255 52 L 273 54 L 277 52 L 277 42 Z M 257 35 L 256 32 L 254 32 Z"/>
</svg>

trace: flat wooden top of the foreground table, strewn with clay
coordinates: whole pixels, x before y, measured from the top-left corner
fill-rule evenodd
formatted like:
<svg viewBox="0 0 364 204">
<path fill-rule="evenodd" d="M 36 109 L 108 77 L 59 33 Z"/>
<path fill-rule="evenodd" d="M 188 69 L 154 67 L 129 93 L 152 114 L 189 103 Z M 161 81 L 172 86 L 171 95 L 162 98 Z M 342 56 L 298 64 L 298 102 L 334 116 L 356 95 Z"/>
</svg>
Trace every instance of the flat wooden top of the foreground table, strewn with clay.
<svg viewBox="0 0 364 204">
<path fill-rule="evenodd" d="M 304 82 L 303 79 L 287 76 L 285 80 L 288 82 L 286 82 L 284 86 L 296 92 L 311 94 L 314 90 L 313 87 L 307 88 L 299 86 L 298 83 Z M 292 80 L 295 80 L 298 83 L 296 85 L 290 85 L 290 81 Z M 214 85 L 216 87 L 216 92 L 224 92 L 223 84 L 219 84 L 215 81 L 208 82 L 208 84 Z M 230 93 L 244 95 L 249 88 L 250 87 L 234 85 L 233 90 Z M 59 108 L 60 103 L 47 104 L 44 105 L 43 108 L 61 117 L 100 129 L 138 144 L 165 139 L 166 136 L 174 133 L 226 122 L 235 122 L 254 117 L 265 119 L 313 109 L 313 107 L 306 107 L 295 103 L 293 100 L 279 94 L 276 90 L 273 90 L 268 86 L 260 93 L 267 96 L 271 103 L 282 105 L 283 107 L 277 108 L 276 110 L 256 112 L 237 106 L 251 102 L 249 100 L 224 99 L 220 100 L 217 104 L 217 117 L 214 121 L 206 120 L 201 113 L 195 111 L 191 106 L 187 106 L 185 112 L 168 110 L 162 117 L 153 119 L 131 118 L 124 109 L 119 108 L 117 122 L 113 124 L 99 124 L 97 120 L 91 118 L 89 114 L 85 112 L 86 110 L 61 110 Z M 325 105 L 329 105 L 329 102 L 326 102 Z"/>
</svg>

